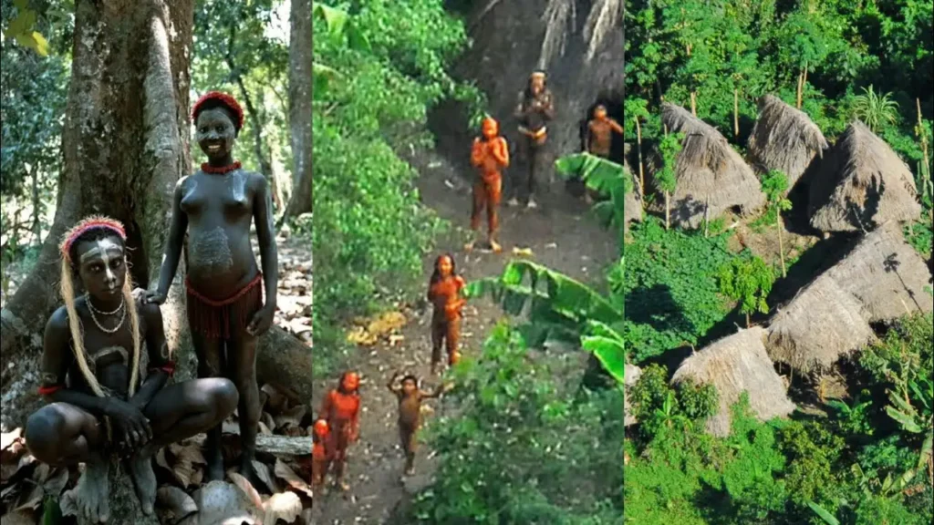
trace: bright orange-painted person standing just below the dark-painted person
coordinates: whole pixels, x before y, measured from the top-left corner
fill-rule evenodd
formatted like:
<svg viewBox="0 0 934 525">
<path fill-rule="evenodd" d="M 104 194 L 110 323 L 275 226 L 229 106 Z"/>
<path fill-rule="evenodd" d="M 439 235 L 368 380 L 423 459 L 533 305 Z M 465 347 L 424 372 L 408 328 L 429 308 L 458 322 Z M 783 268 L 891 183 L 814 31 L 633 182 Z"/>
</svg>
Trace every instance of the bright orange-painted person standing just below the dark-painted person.
<svg viewBox="0 0 934 525">
<path fill-rule="evenodd" d="M 470 162 L 477 168 L 478 176 L 474 182 L 474 206 L 471 210 L 470 225 L 474 232 L 480 230 L 480 214 L 486 207 L 489 248 L 498 252 L 502 250 L 496 242 L 502 200 L 502 169 L 509 166 L 509 146 L 506 139 L 500 136 L 499 122 L 490 117 L 483 120 L 481 134 L 482 136 L 474 138 L 470 155 Z M 466 248 L 474 248 L 475 242 L 476 239 Z"/>
</svg>

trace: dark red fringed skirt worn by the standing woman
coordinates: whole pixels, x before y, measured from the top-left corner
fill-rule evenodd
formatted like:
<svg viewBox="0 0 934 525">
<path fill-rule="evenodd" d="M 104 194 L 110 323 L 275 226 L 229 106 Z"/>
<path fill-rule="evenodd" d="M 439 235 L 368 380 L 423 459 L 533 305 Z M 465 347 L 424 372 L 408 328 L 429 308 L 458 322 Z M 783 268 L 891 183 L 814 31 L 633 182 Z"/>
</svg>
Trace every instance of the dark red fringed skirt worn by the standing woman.
<svg viewBox="0 0 934 525">
<path fill-rule="evenodd" d="M 262 274 L 257 274 L 241 291 L 227 299 L 216 301 L 205 297 L 185 279 L 188 295 L 188 323 L 191 332 L 211 339 L 230 339 L 231 334 L 242 333 L 262 308 Z"/>
</svg>

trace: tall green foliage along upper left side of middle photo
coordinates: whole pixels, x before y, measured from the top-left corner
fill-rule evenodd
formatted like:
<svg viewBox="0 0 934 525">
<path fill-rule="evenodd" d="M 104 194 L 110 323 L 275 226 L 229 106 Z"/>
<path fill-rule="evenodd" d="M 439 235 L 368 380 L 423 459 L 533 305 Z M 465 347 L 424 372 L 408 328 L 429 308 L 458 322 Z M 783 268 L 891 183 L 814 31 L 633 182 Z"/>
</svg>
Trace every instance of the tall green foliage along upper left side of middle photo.
<svg viewBox="0 0 934 525">
<path fill-rule="evenodd" d="M 441 223 L 418 205 L 401 148 L 431 144 L 428 108 L 469 98 L 447 64 L 466 44 L 441 0 L 316 3 L 313 169 L 316 326 L 409 289 Z"/>
</svg>

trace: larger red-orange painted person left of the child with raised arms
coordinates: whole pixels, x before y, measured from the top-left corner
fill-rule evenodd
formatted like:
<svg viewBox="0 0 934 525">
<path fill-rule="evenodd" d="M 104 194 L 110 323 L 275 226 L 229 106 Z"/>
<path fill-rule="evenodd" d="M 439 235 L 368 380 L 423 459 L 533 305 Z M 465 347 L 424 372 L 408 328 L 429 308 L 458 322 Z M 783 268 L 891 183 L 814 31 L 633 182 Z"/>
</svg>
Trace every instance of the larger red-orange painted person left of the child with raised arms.
<svg viewBox="0 0 934 525">
<path fill-rule="evenodd" d="M 345 372 L 337 388 L 328 392 L 321 404 L 318 417 L 328 423 L 328 438 L 325 450 L 332 456 L 335 484 L 341 490 L 349 490 L 344 480 L 347 463 L 347 447 L 360 438 L 360 375 Z"/>
</svg>

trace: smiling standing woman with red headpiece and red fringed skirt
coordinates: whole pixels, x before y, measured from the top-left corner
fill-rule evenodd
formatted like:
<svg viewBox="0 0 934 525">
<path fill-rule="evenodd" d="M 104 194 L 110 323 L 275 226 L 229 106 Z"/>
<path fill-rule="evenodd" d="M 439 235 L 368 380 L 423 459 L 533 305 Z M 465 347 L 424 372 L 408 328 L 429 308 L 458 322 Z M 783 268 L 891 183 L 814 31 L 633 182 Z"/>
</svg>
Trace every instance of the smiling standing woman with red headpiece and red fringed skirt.
<svg viewBox="0 0 934 525">
<path fill-rule="evenodd" d="M 255 484 L 259 479 L 252 461 L 260 421 L 256 344 L 272 326 L 278 281 L 272 199 L 265 177 L 233 161 L 233 144 L 243 127 L 243 110 L 236 100 L 208 92 L 194 105 L 191 117 L 207 162 L 176 185 L 159 285 L 149 291 L 148 299 L 155 304 L 165 301 L 188 234 L 185 286 L 198 376 L 229 377 L 239 390 L 240 473 Z M 253 222 L 262 273 L 249 241 Z M 205 448 L 207 481 L 222 479 L 219 425 L 207 433 Z"/>
</svg>

